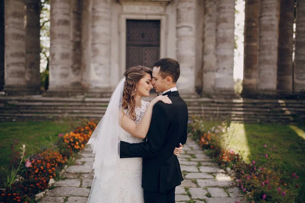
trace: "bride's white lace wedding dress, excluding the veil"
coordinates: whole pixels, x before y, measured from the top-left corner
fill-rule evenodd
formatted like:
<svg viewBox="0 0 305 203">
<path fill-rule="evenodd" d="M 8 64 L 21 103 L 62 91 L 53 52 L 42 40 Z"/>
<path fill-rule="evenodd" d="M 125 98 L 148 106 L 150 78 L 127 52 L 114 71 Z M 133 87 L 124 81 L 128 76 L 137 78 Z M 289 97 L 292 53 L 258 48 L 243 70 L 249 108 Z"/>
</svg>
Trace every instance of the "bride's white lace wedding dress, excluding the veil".
<svg viewBox="0 0 305 203">
<path fill-rule="evenodd" d="M 143 101 L 141 108 L 136 107 L 136 120 L 138 124 L 145 114 L 149 102 Z M 127 114 L 127 110 L 124 110 Z M 143 140 L 119 127 L 120 141 L 140 143 Z M 96 179 L 95 181 L 99 181 Z M 92 188 L 97 198 L 97 203 L 143 203 L 142 184 L 142 158 L 121 158 L 114 169 L 114 176 L 107 181 L 105 188 Z M 96 185 L 100 185 L 96 183 Z"/>
</svg>

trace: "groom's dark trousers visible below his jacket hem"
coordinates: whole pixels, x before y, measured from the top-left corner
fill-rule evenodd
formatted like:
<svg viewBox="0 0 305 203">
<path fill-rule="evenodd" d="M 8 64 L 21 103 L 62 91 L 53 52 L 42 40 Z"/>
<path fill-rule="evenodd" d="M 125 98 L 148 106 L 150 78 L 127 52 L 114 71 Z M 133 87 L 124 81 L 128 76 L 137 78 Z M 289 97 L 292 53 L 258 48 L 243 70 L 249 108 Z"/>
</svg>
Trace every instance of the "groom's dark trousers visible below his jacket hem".
<svg viewBox="0 0 305 203">
<path fill-rule="evenodd" d="M 144 190 L 145 203 L 175 203 L 175 188 L 164 193 L 150 192 Z"/>
</svg>

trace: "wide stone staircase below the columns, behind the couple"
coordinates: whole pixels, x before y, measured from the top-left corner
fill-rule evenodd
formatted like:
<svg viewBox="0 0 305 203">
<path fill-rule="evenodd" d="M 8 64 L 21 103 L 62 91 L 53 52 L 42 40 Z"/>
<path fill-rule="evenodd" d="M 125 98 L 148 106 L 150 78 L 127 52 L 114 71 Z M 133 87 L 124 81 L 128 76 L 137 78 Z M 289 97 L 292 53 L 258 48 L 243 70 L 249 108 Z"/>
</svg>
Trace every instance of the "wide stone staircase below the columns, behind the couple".
<svg viewBox="0 0 305 203">
<path fill-rule="evenodd" d="M 147 97 L 145 100 L 150 100 Z M 1 96 L 0 121 L 101 119 L 110 98 Z M 186 98 L 189 115 L 241 123 L 305 124 L 305 100 Z"/>
</svg>

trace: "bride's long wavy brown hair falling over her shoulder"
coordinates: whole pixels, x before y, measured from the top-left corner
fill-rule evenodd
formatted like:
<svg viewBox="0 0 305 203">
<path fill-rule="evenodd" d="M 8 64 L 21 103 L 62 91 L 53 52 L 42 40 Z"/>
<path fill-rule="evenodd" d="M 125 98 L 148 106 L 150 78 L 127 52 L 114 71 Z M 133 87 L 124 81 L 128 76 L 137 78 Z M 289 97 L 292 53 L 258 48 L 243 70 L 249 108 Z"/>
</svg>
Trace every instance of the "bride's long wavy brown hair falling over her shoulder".
<svg viewBox="0 0 305 203">
<path fill-rule="evenodd" d="M 127 113 L 130 118 L 136 120 L 136 87 L 138 82 L 145 77 L 146 74 L 153 74 L 149 67 L 137 65 L 128 69 L 124 76 L 126 78 L 123 90 L 123 109 L 128 109 Z"/>
</svg>

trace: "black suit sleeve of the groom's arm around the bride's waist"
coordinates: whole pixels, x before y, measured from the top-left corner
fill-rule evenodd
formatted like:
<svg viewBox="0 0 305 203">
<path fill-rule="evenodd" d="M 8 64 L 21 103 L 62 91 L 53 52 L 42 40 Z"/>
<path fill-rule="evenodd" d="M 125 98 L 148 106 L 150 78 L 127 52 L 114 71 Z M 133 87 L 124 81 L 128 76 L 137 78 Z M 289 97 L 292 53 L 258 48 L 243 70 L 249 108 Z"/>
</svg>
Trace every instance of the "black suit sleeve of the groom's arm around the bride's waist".
<svg viewBox="0 0 305 203">
<path fill-rule="evenodd" d="M 154 106 L 153 115 L 151 116 L 147 141 L 137 144 L 121 141 L 120 158 L 154 157 L 161 150 L 169 124 L 170 120 L 167 117 L 165 108 L 157 103 Z"/>
</svg>

